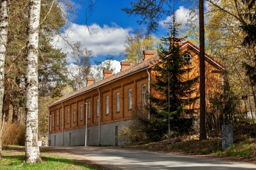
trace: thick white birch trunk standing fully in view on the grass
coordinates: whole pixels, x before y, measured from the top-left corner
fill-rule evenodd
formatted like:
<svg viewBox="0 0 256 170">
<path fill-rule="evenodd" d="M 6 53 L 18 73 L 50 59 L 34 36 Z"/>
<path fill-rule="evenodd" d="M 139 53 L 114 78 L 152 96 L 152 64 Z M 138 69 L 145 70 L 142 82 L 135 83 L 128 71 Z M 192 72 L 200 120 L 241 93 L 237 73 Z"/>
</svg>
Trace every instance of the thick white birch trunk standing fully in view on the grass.
<svg viewBox="0 0 256 170">
<path fill-rule="evenodd" d="M 25 162 L 41 162 L 38 146 L 38 40 L 40 0 L 29 1 L 26 58 Z"/>
</svg>

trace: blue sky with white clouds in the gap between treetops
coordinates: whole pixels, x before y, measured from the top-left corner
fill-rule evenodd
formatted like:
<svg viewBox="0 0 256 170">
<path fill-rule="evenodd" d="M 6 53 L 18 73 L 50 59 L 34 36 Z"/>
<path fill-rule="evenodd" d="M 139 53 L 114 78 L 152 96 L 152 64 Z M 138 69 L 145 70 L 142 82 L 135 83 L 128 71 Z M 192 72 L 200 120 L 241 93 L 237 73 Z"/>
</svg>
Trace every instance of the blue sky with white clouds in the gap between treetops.
<svg viewBox="0 0 256 170">
<path fill-rule="evenodd" d="M 69 31 L 66 30 L 63 34 L 68 35 L 70 42 L 80 41 L 82 47 L 94 51 L 95 56 L 91 60 L 92 64 L 94 64 L 94 60 L 104 61 L 111 56 L 114 56 L 117 61 L 122 60 L 118 54 L 123 51 L 125 37 L 135 29 L 145 28 L 144 25 L 137 23 L 140 17 L 129 17 L 121 10 L 125 7 L 131 7 L 130 0 L 97 0 L 95 11 L 88 20 L 91 35 L 85 26 L 87 3 L 87 1 L 74 2 L 77 14 L 74 14 L 74 19 L 68 24 Z M 182 21 L 186 20 L 188 8 L 181 1 L 176 2 L 175 10 L 179 11 L 177 18 Z M 170 18 L 170 16 L 169 18 L 164 16 L 162 20 L 169 20 Z M 166 27 L 160 25 L 155 36 L 159 38 L 165 36 L 166 30 Z M 65 50 L 64 42 L 58 44 L 60 48 Z M 66 50 L 70 52 L 70 49 Z M 69 62 L 72 63 L 72 59 L 69 58 Z"/>
</svg>

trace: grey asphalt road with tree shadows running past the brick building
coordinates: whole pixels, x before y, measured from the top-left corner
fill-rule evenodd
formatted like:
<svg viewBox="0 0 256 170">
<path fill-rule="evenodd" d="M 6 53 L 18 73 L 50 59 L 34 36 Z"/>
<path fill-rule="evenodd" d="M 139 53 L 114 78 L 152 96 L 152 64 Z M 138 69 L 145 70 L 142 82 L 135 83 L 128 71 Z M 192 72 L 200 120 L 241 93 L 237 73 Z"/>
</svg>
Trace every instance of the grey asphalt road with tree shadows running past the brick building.
<svg viewBox="0 0 256 170">
<path fill-rule="evenodd" d="M 123 170 L 256 170 L 255 164 L 178 154 L 153 153 L 109 147 L 49 147 L 87 159 L 107 169 Z M 111 167 L 111 168 L 110 168 Z"/>
</svg>

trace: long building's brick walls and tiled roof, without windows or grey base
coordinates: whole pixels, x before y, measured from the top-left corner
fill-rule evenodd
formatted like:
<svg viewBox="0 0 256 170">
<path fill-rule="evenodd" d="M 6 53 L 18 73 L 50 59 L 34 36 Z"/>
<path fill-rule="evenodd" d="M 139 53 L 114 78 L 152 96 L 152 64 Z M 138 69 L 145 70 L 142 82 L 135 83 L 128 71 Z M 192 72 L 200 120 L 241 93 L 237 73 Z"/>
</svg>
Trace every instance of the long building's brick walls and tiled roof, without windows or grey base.
<svg viewBox="0 0 256 170">
<path fill-rule="evenodd" d="M 191 71 L 188 75 L 184 77 L 186 79 L 192 79 L 195 76 L 199 76 L 199 52 L 198 48 L 193 46 L 190 42 L 185 42 L 181 48 L 182 51 L 188 51 L 192 55 L 191 66 L 195 66 L 195 69 Z M 152 55 L 152 51 L 149 52 L 149 55 Z M 147 54 L 147 52 L 144 54 Z M 104 78 L 101 82 L 94 83 L 88 87 L 81 89 L 78 92 L 73 92 L 68 96 L 64 96 L 62 99 L 53 103 L 49 106 L 50 115 L 54 115 L 54 125 L 51 125 L 51 133 L 57 133 L 62 131 L 61 125 L 61 112 L 63 106 L 63 131 L 85 128 L 85 110 L 86 104 L 90 103 L 90 109 L 88 108 L 88 114 L 90 110 L 90 118 L 87 118 L 87 127 L 98 126 L 99 117 L 96 116 L 97 113 L 97 100 L 100 96 L 100 125 L 105 125 L 114 122 L 121 122 L 132 119 L 132 110 L 142 105 L 142 86 L 146 86 L 146 91 L 148 91 L 148 78 L 154 78 L 154 75 L 157 74 L 153 69 L 152 62 L 158 61 L 159 57 L 151 58 L 151 61 L 146 64 L 140 63 L 131 68 L 126 62 L 122 62 L 123 67 L 120 73 L 112 75 L 110 77 Z M 148 56 L 146 56 L 148 59 Z M 144 65 L 146 66 L 144 66 Z M 212 95 L 215 91 L 222 91 L 222 70 L 225 69 L 220 63 L 206 55 L 205 61 L 205 72 L 206 72 L 206 96 Z M 137 69 L 137 67 L 139 67 Z M 136 69 L 137 70 L 136 70 Z M 148 72 L 147 72 L 148 71 Z M 109 72 L 105 71 L 107 74 Z M 149 75 L 148 75 L 149 73 Z M 110 73 L 111 74 L 111 73 Z M 115 78 L 118 77 L 118 78 Z M 114 79 L 115 78 L 115 79 Z M 113 80 L 112 80 L 113 79 Z M 91 79 L 90 79 L 91 80 Z M 91 87 L 91 88 L 90 88 Z M 196 84 L 196 88 L 199 87 L 199 83 Z M 129 89 L 132 91 L 132 108 L 129 109 Z M 119 93 L 119 103 L 120 111 L 117 111 L 117 100 L 116 94 Z M 154 89 L 150 88 L 150 93 L 154 96 L 159 96 Z M 199 96 L 199 89 L 194 94 L 194 96 Z M 106 98 L 108 97 L 108 114 L 106 114 Z M 159 96 L 161 97 L 161 96 Z M 146 101 L 148 102 L 148 101 Z M 82 112 L 80 112 L 80 107 L 82 105 Z M 191 108 L 198 108 L 199 103 L 195 103 Z M 73 110 L 75 108 L 75 120 L 73 118 Z M 69 110 L 67 122 L 67 110 Z M 56 115 L 58 113 L 58 125 Z M 82 113 L 82 120 L 80 120 L 80 113 Z M 50 122 L 50 121 L 49 121 Z"/>
</svg>

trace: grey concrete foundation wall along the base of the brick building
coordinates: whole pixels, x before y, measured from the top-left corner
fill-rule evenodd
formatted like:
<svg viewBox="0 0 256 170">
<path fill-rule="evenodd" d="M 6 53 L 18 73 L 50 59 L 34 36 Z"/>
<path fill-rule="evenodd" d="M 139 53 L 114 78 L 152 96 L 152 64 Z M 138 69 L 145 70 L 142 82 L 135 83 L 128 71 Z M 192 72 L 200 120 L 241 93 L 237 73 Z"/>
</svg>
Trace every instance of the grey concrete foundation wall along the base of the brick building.
<svg viewBox="0 0 256 170">
<path fill-rule="evenodd" d="M 87 128 L 87 145 L 112 145 L 116 144 L 116 126 L 118 131 L 127 126 L 129 121 L 122 121 L 112 124 L 100 126 L 100 142 L 99 141 L 99 126 Z M 88 133 L 89 131 L 89 133 Z M 61 146 L 62 132 L 50 134 L 50 146 Z M 89 140 L 89 141 L 88 141 Z M 64 146 L 81 146 L 85 145 L 85 128 L 69 130 L 63 132 Z M 123 142 L 118 141 L 118 146 L 124 145 Z"/>
</svg>

